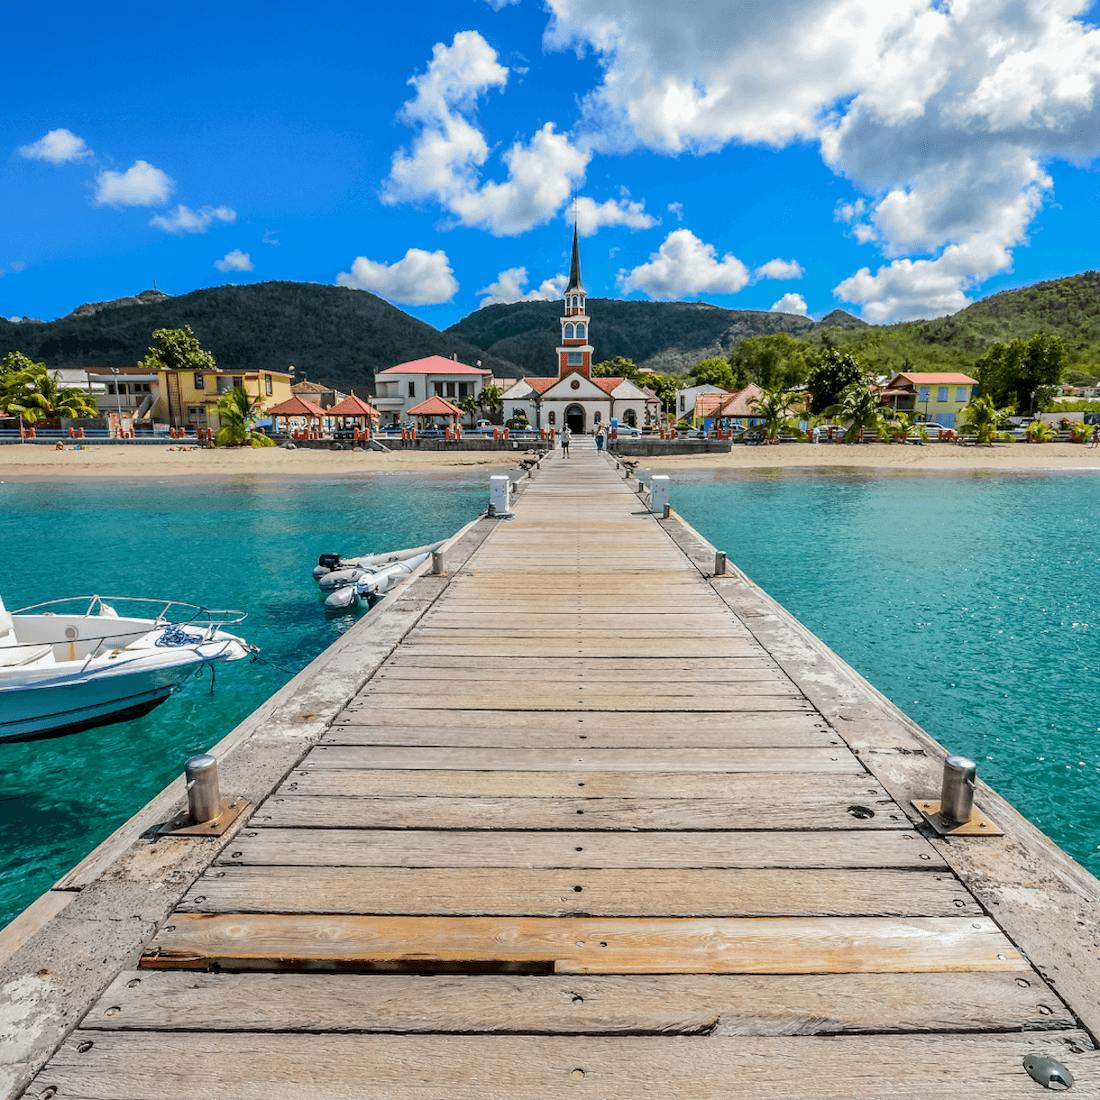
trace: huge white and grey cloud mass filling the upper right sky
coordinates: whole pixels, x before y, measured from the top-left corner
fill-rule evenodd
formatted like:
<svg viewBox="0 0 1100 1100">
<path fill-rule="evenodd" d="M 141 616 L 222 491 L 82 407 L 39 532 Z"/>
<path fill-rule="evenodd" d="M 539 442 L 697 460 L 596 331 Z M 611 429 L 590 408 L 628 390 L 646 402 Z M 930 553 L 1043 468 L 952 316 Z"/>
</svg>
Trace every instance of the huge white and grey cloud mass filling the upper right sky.
<svg viewBox="0 0 1100 1100">
<path fill-rule="evenodd" d="M 1100 154 L 1088 0 L 547 0 L 551 46 L 602 67 L 586 147 L 817 142 L 883 257 L 837 288 L 868 319 L 943 312 L 1011 268 L 1049 165 Z M 776 59 L 770 63 L 770 59 Z"/>
</svg>

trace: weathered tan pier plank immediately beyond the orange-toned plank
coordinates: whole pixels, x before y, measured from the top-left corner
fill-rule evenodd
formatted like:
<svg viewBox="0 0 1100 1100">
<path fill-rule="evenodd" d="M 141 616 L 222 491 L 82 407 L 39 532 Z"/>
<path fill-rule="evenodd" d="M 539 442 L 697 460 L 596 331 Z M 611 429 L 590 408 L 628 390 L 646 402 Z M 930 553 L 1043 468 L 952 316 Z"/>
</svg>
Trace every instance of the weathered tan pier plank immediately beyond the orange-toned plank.
<svg viewBox="0 0 1100 1100">
<path fill-rule="evenodd" d="M 978 916 L 981 909 L 942 871 L 221 866 L 191 887 L 177 912 Z"/>
</svg>

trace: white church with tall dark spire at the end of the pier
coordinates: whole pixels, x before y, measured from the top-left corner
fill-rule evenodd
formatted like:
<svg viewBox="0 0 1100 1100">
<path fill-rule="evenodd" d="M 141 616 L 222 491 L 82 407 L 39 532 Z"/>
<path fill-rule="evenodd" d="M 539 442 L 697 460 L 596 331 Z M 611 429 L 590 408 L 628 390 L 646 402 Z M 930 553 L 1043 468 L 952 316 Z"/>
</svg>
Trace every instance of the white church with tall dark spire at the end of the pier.
<svg viewBox="0 0 1100 1100">
<path fill-rule="evenodd" d="M 556 377 L 526 377 L 505 391 L 504 419 L 522 415 L 532 428 L 594 432 L 598 428 L 657 424 L 657 396 L 629 378 L 593 378 L 591 324 L 581 284 L 581 251 L 573 227 L 573 258 L 565 287 L 565 316 L 561 318 Z"/>
</svg>

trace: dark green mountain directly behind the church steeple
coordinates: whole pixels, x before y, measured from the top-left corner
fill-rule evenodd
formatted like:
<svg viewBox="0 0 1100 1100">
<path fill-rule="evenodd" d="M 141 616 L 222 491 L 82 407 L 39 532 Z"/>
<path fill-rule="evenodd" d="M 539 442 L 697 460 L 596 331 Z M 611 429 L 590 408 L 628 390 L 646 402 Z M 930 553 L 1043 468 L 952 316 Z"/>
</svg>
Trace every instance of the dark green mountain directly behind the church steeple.
<svg viewBox="0 0 1100 1100">
<path fill-rule="evenodd" d="M 486 306 L 447 332 L 487 354 L 512 360 L 525 374 L 551 374 L 561 337 L 561 308 L 560 301 Z M 769 332 L 803 337 L 815 327 L 809 318 L 793 314 L 722 309 L 698 301 L 590 298 L 588 312 L 596 359 L 623 355 L 639 366 L 669 372 L 688 371 L 708 355 L 728 355 L 746 337 Z"/>
</svg>

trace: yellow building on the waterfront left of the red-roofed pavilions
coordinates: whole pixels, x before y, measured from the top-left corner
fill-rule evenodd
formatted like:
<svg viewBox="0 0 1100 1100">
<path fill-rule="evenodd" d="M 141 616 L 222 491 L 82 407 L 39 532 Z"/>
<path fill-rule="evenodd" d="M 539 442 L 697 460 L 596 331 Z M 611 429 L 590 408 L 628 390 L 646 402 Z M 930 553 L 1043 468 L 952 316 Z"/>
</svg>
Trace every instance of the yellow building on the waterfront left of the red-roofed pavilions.
<svg viewBox="0 0 1100 1100">
<path fill-rule="evenodd" d="M 139 366 L 94 366 L 89 377 L 103 382 L 99 411 L 118 413 L 135 422 L 154 421 L 174 428 L 217 428 L 218 402 L 240 386 L 261 408 L 290 397 L 287 371 L 147 371 Z"/>
</svg>

